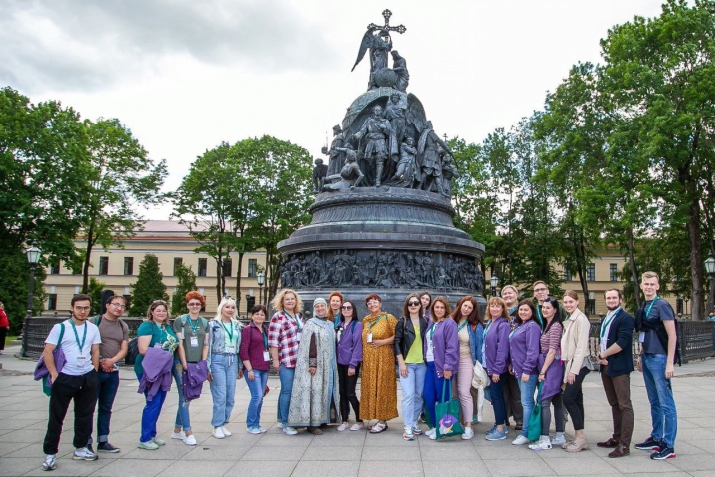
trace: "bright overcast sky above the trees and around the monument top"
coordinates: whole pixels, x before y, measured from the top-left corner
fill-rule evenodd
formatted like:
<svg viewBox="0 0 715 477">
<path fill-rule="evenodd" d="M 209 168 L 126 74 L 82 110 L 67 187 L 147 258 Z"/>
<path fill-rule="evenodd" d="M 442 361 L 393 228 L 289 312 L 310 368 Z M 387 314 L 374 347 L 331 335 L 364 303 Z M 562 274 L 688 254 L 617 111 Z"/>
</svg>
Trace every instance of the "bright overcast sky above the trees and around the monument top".
<svg viewBox="0 0 715 477">
<path fill-rule="evenodd" d="M 269 134 L 314 157 L 367 89 L 350 72 L 369 23 L 392 11 L 408 93 L 435 131 L 481 142 L 543 108 L 600 40 L 654 0 L 2 0 L 0 87 L 118 118 L 155 160 L 164 190 L 222 141 Z M 392 60 L 390 60 L 391 62 Z M 328 141 L 330 138 L 328 137 Z M 142 213 L 167 219 L 171 206 Z"/>
</svg>

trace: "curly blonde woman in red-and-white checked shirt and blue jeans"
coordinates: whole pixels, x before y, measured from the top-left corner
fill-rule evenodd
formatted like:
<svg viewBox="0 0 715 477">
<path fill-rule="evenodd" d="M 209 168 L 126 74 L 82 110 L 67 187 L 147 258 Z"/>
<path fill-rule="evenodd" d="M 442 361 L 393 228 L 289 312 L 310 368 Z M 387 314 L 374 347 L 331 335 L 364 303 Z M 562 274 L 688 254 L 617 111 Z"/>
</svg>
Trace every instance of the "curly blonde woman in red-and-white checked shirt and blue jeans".
<svg viewBox="0 0 715 477">
<path fill-rule="evenodd" d="M 298 349 L 305 325 L 301 313 L 303 300 L 295 290 L 284 288 L 278 292 L 271 306 L 276 313 L 271 317 L 268 326 L 268 348 L 273 368 L 278 370 L 281 382 L 281 392 L 278 395 L 278 428 L 283 429 L 289 436 L 294 436 L 298 431 L 288 425 L 288 412 Z"/>
</svg>

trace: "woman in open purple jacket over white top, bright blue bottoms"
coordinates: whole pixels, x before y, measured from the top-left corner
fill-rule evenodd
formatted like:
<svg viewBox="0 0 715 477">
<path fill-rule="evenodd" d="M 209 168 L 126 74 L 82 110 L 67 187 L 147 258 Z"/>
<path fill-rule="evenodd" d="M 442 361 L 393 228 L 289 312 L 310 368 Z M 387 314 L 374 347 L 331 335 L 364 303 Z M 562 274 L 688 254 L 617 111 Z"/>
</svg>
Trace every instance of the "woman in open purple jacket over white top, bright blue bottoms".
<svg viewBox="0 0 715 477">
<path fill-rule="evenodd" d="M 432 323 L 425 333 L 425 359 L 427 360 L 427 375 L 425 376 L 425 414 L 430 429 L 425 435 L 432 440 L 437 439 L 435 428 L 435 404 L 442 399 L 442 387 L 445 380 L 451 380 L 452 374 L 459 366 L 459 338 L 457 323 L 449 319 L 451 312 L 449 300 L 438 296 L 430 305 Z M 451 386 L 452 383 L 447 384 Z"/>
</svg>

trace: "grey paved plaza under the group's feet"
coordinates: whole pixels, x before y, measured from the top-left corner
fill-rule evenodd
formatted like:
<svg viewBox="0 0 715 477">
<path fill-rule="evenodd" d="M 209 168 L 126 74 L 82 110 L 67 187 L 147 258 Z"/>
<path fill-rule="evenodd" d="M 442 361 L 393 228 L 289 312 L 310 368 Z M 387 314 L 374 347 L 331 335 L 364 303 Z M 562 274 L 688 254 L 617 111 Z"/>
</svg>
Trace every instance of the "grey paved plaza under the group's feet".
<svg viewBox="0 0 715 477">
<path fill-rule="evenodd" d="M 42 440 L 47 423 L 48 398 L 30 373 L 34 362 L 12 356 L 17 347 L 0 356 L 0 475 L 47 475 L 41 469 Z M 57 470 L 49 475 L 73 476 L 611 476 L 667 475 L 715 476 L 715 360 L 698 361 L 676 367 L 673 380 L 678 406 L 678 457 L 653 461 L 648 452 L 631 447 L 631 455 L 609 459 L 609 449 L 599 449 L 596 442 L 611 435 L 611 411 L 606 403 L 600 379 L 590 374 L 584 384 L 586 435 L 590 450 L 569 454 L 561 449 L 534 452 L 511 445 L 514 431 L 506 441 L 488 442 L 484 431 L 493 423 L 487 403 L 485 422 L 476 427 L 476 436 L 463 441 L 451 438 L 430 441 L 420 436 L 413 442 L 402 439 L 401 421 L 389 423 L 378 435 L 365 431 L 342 433 L 334 427 L 321 436 L 305 431 L 289 437 L 275 426 L 279 382 L 269 379 L 271 392 L 266 396 L 261 424 L 264 435 L 245 432 L 248 388 L 241 380 L 236 395 L 234 419 L 229 427 L 233 436 L 223 440 L 211 437 L 211 394 L 204 394 L 191 405 L 192 428 L 198 445 L 188 447 L 171 440 L 177 408 L 176 389 L 171 394 L 159 420 L 159 437 L 167 440 L 156 451 L 137 449 L 144 397 L 137 394 L 137 381 L 131 369 L 121 370 L 121 386 L 114 403 L 110 441 L 121 447 L 119 454 L 99 454 L 94 462 L 71 458 L 73 414 L 65 421 Z M 650 431 L 650 413 L 640 373 L 632 375 L 635 408 L 634 442 Z M 399 392 L 399 386 L 398 386 Z M 400 396 L 398 396 L 399 402 Z M 573 432 L 571 424 L 567 433 Z"/>
</svg>

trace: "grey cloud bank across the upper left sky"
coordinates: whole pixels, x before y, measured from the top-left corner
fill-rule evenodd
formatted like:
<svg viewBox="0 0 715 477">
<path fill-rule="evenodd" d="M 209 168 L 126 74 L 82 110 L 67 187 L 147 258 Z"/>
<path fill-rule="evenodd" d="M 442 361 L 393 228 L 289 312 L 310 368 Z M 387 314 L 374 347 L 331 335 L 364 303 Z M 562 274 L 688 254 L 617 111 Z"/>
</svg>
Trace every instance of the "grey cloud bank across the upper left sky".
<svg viewBox="0 0 715 477">
<path fill-rule="evenodd" d="M 151 71 L 170 54 L 259 74 L 322 70 L 336 54 L 319 26 L 287 1 L 5 0 L 2 5 L 0 84 L 30 92 L 101 89 Z"/>
</svg>

